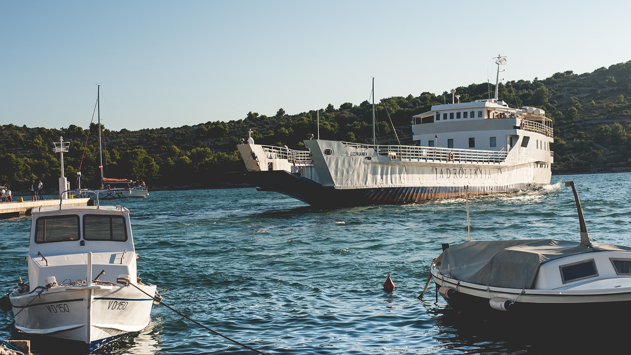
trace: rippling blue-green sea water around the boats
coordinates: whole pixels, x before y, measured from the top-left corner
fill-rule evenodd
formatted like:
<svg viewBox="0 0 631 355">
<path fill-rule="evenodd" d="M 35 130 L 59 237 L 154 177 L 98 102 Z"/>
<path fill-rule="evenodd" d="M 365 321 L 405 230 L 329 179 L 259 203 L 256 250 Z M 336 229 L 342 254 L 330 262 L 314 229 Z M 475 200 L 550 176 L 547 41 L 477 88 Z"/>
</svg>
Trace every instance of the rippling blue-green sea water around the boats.
<svg viewBox="0 0 631 355">
<path fill-rule="evenodd" d="M 469 198 L 471 239 L 580 240 L 573 180 L 594 241 L 631 245 L 631 174 L 553 176 L 543 190 Z M 255 188 L 151 191 L 103 201 L 131 211 L 138 272 L 163 301 L 151 323 L 98 354 L 545 354 L 626 346 L 611 324 L 555 330 L 474 323 L 452 313 L 433 283 L 441 244 L 469 238 L 466 200 L 312 208 Z M 0 293 L 27 280 L 29 217 L 0 220 Z M 391 274 L 395 289 L 382 288 Z M 168 291 L 167 291 L 168 290 Z M 594 311 L 586 309 L 586 312 Z M 597 310 L 596 310 L 597 311 Z M 0 339 L 15 339 L 0 311 Z M 545 323 L 546 320 L 542 320 Z M 594 330 L 607 329 L 607 339 Z M 50 343 L 52 344 L 52 343 Z M 33 340 L 40 355 L 74 354 Z"/>
</svg>

